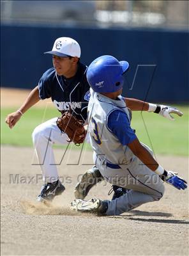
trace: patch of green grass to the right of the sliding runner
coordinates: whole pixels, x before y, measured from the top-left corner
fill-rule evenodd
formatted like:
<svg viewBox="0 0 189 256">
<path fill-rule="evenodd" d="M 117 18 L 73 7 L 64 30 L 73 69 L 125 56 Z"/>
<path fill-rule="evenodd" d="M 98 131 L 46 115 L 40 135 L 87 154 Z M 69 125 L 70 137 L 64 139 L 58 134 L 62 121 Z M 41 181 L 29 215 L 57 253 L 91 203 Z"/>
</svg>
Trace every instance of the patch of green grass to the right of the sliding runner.
<svg viewBox="0 0 189 256">
<path fill-rule="evenodd" d="M 183 116 L 170 121 L 155 113 L 133 112 L 132 127 L 140 141 L 153 148 L 155 154 L 188 156 L 188 107 L 177 106 Z"/>
</svg>

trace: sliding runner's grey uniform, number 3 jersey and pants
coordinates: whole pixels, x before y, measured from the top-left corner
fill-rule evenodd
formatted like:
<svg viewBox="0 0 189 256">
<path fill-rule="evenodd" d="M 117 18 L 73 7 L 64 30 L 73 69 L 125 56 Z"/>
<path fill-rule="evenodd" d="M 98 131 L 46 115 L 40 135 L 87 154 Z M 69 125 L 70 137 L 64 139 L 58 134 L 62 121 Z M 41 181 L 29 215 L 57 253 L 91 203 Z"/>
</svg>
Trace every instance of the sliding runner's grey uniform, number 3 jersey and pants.
<svg viewBox="0 0 189 256">
<path fill-rule="evenodd" d="M 106 200 L 106 215 L 119 215 L 141 204 L 160 200 L 164 192 L 160 177 L 127 147 L 137 137 L 128 121 L 125 100 L 121 95 L 118 98 L 119 100 L 112 100 L 91 91 L 88 105 L 89 137 L 94 150 L 94 163 L 108 182 L 130 189 L 116 200 Z M 123 132 L 119 133 L 119 130 Z M 142 145 L 153 154 L 150 148 Z"/>
</svg>

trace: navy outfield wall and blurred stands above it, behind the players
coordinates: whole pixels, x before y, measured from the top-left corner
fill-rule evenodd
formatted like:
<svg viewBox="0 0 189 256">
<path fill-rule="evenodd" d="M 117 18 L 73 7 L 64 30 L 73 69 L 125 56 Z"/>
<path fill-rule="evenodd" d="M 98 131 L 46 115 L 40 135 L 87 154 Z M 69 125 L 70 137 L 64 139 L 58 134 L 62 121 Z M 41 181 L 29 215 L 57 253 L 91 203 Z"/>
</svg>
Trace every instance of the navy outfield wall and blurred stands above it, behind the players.
<svg viewBox="0 0 189 256">
<path fill-rule="evenodd" d="M 59 36 L 81 61 L 110 54 L 130 63 L 124 95 L 188 102 L 188 1 L 1 1 L 1 86 L 33 88 Z"/>
</svg>

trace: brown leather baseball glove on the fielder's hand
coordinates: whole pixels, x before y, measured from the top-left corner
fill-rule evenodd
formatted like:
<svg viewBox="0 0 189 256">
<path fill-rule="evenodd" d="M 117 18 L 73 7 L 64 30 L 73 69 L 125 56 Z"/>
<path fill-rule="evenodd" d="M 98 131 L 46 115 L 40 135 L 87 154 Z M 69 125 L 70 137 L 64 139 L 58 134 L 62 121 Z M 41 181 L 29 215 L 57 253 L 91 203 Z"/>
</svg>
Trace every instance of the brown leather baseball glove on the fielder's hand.
<svg viewBox="0 0 189 256">
<path fill-rule="evenodd" d="M 65 111 L 59 118 L 57 118 L 56 124 L 61 132 L 65 132 L 70 141 L 73 141 L 76 145 L 84 142 L 86 138 L 84 123 L 82 120 L 75 118 L 71 111 Z"/>
</svg>

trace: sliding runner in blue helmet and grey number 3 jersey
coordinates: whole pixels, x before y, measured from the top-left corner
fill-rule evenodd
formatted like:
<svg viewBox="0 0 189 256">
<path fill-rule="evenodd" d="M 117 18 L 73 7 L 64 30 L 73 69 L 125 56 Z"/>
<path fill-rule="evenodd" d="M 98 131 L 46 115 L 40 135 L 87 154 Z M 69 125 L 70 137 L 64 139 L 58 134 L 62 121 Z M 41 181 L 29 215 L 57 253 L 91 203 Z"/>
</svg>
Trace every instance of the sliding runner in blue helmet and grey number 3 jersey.
<svg viewBox="0 0 189 256">
<path fill-rule="evenodd" d="M 152 150 L 140 143 L 130 127 L 130 116 L 121 96 L 127 61 L 105 55 L 87 69 L 91 86 L 88 123 L 93 159 L 104 179 L 130 189 L 115 200 L 76 199 L 71 208 L 77 211 L 119 215 L 147 202 L 160 200 L 163 181 L 177 189 L 186 189 L 186 180 L 165 170 L 153 158 Z"/>
</svg>

